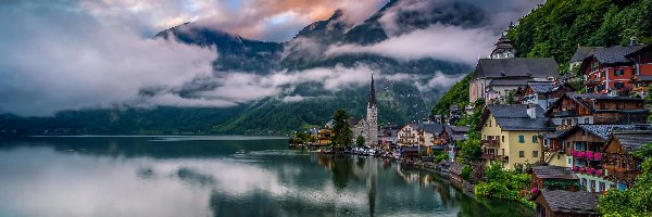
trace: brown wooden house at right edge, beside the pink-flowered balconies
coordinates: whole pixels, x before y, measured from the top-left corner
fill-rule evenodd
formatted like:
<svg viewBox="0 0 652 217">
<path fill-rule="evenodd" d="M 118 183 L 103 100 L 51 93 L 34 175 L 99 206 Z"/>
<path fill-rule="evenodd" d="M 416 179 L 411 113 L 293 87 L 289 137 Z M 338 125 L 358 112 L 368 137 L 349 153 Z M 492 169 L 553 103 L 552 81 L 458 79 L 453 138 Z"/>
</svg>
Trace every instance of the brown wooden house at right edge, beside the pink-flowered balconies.
<svg viewBox="0 0 652 217">
<path fill-rule="evenodd" d="M 634 153 L 652 141 L 652 130 L 614 131 L 603 149 L 602 168 L 606 170 L 607 179 L 616 182 L 619 190 L 634 184 L 641 174 L 643 159 Z"/>
</svg>

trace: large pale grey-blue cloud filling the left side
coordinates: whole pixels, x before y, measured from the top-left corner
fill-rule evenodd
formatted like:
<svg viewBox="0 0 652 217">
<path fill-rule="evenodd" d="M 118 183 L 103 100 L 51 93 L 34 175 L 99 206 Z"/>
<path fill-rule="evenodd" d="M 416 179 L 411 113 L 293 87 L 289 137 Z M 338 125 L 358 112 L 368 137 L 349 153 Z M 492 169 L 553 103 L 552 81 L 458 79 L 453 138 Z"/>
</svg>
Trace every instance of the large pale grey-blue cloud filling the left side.
<svg viewBox="0 0 652 217">
<path fill-rule="evenodd" d="M 213 49 L 143 39 L 136 28 L 51 7 L 7 7 L 0 14 L 5 33 L 0 35 L 0 107 L 5 112 L 46 116 L 139 104 L 149 98 L 143 89 L 159 90 L 160 104 L 233 104 L 178 100 L 185 84 L 212 75 Z"/>
</svg>

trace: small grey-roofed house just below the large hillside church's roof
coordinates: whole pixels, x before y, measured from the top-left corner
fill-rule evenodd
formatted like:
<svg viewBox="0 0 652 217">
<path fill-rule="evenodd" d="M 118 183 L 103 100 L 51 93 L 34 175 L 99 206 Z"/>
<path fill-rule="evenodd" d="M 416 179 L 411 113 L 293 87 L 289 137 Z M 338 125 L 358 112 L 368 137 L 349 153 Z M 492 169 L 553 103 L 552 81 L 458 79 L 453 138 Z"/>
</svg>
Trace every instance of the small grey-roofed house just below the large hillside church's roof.
<svg viewBox="0 0 652 217">
<path fill-rule="evenodd" d="M 565 92 L 575 92 L 575 88 L 567 82 L 557 85 L 553 81 L 530 81 L 517 91 L 521 104 L 538 104 L 543 110 L 548 110 Z"/>
</svg>

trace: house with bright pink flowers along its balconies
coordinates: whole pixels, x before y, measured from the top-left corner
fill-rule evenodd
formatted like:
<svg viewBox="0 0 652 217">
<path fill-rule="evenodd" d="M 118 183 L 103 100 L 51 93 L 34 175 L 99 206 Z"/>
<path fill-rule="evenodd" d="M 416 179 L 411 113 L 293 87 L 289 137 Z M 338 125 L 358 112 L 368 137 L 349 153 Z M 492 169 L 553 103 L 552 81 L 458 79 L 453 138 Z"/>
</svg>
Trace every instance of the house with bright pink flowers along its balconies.
<svg viewBox="0 0 652 217">
<path fill-rule="evenodd" d="M 559 154 L 562 161 L 551 161 L 552 165 L 572 167 L 580 178 L 582 190 L 604 192 L 615 188 L 615 183 L 606 179 L 601 164 L 604 159 L 602 150 L 613 131 L 647 129 L 649 125 L 576 125 L 560 136 L 565 144 L 565 154 Z M 565 162 L 564 162 L 565 161 Z"/>
</svg>

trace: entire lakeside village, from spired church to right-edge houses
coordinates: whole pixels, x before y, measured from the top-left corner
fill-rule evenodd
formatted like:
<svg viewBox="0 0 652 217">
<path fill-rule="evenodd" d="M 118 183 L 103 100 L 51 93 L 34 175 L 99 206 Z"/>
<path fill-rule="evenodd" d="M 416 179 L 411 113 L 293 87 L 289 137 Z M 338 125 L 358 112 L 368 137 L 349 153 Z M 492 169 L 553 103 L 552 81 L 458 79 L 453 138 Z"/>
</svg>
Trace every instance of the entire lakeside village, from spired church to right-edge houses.
<svg viewBox="0 0 652 217">
<path fill-rule="evenodd" d="M 652 142 L 644 100 L 652 84 L 652 46 L 636 38 L 627 47 L 578 46 L 568 68 L 553 58 L 515 53 L 511 41 L 500 38 L 491 55 L 478 60 L 469 103 L 402 125 L 378 126 L 383 111 L 372 75 L 367 117 L 347 118 L 350 145 L 331 145 L 333 120 L 294 145 L 436 165 L 476 194 L 478 178 L 469 177 L 468 167 L 521 171 L 529 176 L 527 196 L 521 197 L 536 204 L 537 216 L 599 216 L 599 196 L 635 184 L 644 158 L 634 153 Z M 467 140 L 478 143 L 472 159 L 461 153 L 474 143 Z"/>
</svg>

